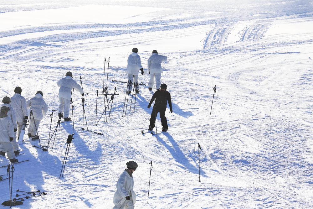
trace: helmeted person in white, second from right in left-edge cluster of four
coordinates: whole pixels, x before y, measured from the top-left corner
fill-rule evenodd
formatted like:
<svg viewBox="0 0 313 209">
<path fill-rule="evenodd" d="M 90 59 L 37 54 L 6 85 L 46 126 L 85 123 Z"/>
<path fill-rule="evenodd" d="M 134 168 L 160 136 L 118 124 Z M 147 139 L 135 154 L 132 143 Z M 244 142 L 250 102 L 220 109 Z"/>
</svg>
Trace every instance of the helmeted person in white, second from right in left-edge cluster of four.
<svg viewBox="0 0 313 209">
<path fill-rule="evenodd" d="M 22 88 L 17 86 L 14 89 L 14 95 L 11 97 L 11 107 L 13 107 L 16 114 L 16 122 L 18 124 L 18 137 L 21 134 L 23 122 L 28 120 L 28 110 L 26 107 L 26 100 L 21 95 Z"/>
</svg>

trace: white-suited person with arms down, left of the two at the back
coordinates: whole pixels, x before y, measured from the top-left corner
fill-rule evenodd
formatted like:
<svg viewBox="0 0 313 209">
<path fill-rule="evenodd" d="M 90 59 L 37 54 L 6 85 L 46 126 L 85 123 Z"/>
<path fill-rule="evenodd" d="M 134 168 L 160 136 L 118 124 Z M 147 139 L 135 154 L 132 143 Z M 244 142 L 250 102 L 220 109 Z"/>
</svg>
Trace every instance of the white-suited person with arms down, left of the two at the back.
<svg viewBox="0 0 313 209">
<path fill-rule="evenodd" d="M 136 94 L 139 93 L 138 85 L 138 71 L 141 70 L 141 75 L 143 75 L 143 67 L 141 66 L 140 56 L 137 54 L 138 49 L 133 48 L 132 53 L 128 56 L 127 59 L 127 79 L 128 79 L 128 88 L 127 93 L 131 93 L 132 86 L 135 84 Z"/>
</svg>

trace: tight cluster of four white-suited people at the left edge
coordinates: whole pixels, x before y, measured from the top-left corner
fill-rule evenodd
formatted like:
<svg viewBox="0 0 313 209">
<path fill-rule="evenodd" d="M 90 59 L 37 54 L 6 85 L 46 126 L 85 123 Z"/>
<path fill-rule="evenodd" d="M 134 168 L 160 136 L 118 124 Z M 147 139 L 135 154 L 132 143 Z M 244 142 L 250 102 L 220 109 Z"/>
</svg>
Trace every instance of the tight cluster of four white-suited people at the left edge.
<svg viewBox="0 0 313 209">
<path fill-rule="evenodd" d="M 44 102 L 42 91 L 37 91 L 35 97 L 26 102 L 21 95 L 22 88 L 17 86 L 13 96 L 3 97 L 0 109 L 0 154 L 5 156 L 7 153 L 11 163 L 18 160 L 15 156 L 19 155 L 18 139 L 22 132 L 23 123 L 29 121 L 28 136 L 37 139 L 37 130 L 43 115 L 47 113 L 48 107 Z M 28 112 L 30 108 L 30 112 Z M 29 117 L 28 117 L 29 116 Z"/>
</svg>

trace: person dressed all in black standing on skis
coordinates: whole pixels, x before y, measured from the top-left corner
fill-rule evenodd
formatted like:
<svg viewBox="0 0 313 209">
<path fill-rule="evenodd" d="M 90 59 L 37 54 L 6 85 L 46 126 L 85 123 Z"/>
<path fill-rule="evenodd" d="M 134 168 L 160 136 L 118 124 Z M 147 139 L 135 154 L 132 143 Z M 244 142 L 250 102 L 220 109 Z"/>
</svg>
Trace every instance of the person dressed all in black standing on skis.
<svg viewBox="0 0 313 209">
<path fill-rule="evenodd" d="M 161 90 L 157 90 L 156 92 L 154 92 L 148 105 L 148 108 L 150 108 L 152 102 L 156 100 L 154 102 L 153 109 L 151 112 L 149 130 L 152 131 L 153 128 L 155 127 L 156 115 L 158 112 L 160 112 L 162 132 L 167 132 L 168 126 L 167 126 L 167 120 L 165 117 L 165 110 L 166 110 L 166 105 L 168 103 L 168 106 L 170 107 L 170 113 L 173 112 L 171 94 L 168 91 L 166 91 L 167 85 L 165 83 L 163 83 L 160 87 L 161 87 Z"/>
</svg>

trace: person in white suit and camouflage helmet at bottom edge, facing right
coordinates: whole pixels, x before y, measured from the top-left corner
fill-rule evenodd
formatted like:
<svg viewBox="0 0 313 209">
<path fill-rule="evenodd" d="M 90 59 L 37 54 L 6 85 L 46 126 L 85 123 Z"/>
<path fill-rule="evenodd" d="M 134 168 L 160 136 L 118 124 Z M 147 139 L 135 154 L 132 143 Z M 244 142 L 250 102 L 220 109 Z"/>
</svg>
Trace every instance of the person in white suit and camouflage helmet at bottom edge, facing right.
<svg viewBox="0 0 313 209">
<path fill-rule="evenodd" d="M 133 209 L 136 202 L 132 174 L 138 168 L 138 165 L 135 161 L 129 161 L 126 165 L 127 169 L 123 171 L 116 183 L 116 191 L 113 197 L 115 206 L 112 209 Z"/>
</svg>

